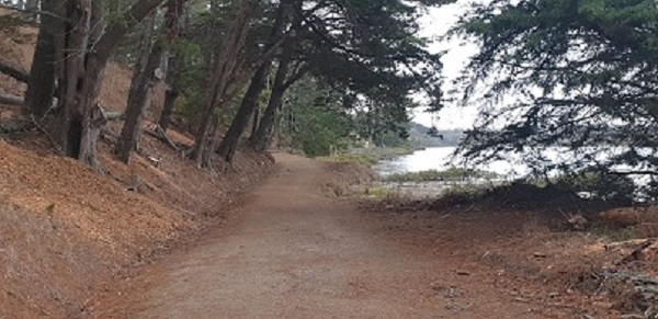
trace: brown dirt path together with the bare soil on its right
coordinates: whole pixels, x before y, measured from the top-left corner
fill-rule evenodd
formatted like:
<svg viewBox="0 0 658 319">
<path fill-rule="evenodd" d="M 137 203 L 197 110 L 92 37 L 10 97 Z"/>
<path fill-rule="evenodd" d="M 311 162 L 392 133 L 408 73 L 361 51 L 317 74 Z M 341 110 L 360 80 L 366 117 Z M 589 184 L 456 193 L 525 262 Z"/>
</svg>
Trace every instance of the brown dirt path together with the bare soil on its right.
<svg viewBox="0 0 658 319">
<path fill-rule="evenodd" d="M 336 166 L 290 155 L 197 242 L 99 299 L 99 318 L 617 318 L 591 296 L 594 238 L 520 213 L 363 214 Z M 367 212 L 367 210 L 366 210 Z M 574 259 L 578 251 L 580 258 Z M 590 317 L 587 317 L 590 316 Z"/>
</svg>

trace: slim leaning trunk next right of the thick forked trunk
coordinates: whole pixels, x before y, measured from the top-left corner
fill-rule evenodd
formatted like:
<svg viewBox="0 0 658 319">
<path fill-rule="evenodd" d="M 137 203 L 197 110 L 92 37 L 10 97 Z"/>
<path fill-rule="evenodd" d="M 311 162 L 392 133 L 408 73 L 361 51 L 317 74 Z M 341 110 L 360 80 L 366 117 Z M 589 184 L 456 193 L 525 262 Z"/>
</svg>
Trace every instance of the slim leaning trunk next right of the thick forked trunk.
<svg viewBox="0 0 658 319">
<path fill-rule="evenodd" d="M 156 70 L 162 60 L 162 43 L 154 37 L 155 14 L 151 14 L 148 19 L 148 31 L 144 34 L 141 41 L 139 59 L 135 65 L 128 92 L 126 121 L 115 149 L 118 160 L 124 163 L 128 163 L 133 150 L 137 147 L 144 114 L 150 104 L 154 87 L 156 86 Z"/>
</svg>

